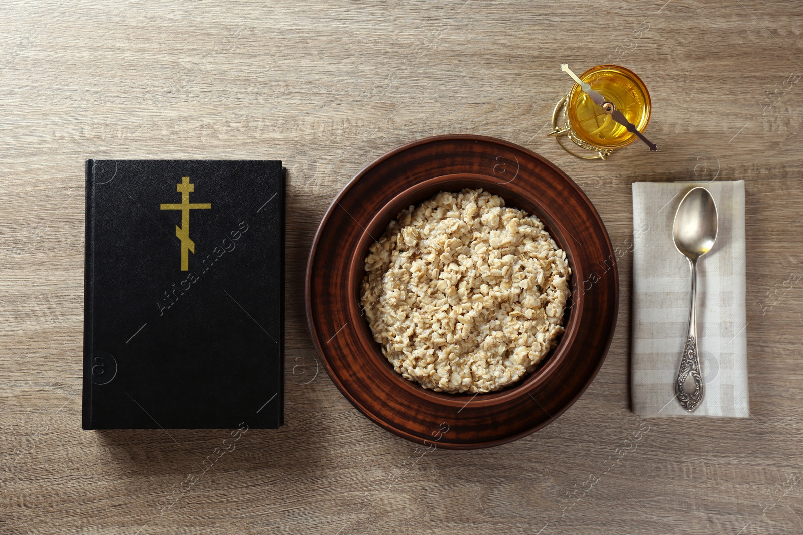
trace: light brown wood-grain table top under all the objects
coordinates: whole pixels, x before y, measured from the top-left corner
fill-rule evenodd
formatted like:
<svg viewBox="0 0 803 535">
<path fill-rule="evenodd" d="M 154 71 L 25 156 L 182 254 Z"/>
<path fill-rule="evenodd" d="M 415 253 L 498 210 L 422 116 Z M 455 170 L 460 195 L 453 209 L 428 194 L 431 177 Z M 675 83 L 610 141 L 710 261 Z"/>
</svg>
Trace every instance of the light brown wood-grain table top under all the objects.
<svg viewBox="0 0 803 535">
<path fill-rule="evenodd" d="M 803 4 L 220 3 L 2 7 L 0 533 L 803 531 Z M 641 75 L 659 152 L 586 162 L 545 138 L 563 61 Z M 459 132 L 573 176 L 625 250 L 623 289 L 631 182 L 746 180 L 752 417 L 631 413 L 625 292 L 585 395 L 499 448 L 415 459 L 316 375 L 302 281 L 324 210 L 377 156 Z M 88 157 L 288 169 L 287 423 L 189 492 L 227 432 L 80 429 Z"/>
</svg>

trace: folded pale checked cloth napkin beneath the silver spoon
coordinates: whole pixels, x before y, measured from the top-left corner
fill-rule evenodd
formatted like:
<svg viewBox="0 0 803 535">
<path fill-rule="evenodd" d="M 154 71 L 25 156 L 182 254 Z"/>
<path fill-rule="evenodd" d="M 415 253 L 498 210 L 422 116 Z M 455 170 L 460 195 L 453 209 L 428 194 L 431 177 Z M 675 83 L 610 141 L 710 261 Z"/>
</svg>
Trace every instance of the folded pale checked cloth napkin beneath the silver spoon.
<svg viewBox="0 0 803 535">
<path fill-rule="evenodd" d="M 687 412 L 673 384 L 686 339 L 691 272 L 675 249 L 680 200 L 702 185 L 714 197 L 719 229 L 697 261 L 697 336 L 703 401 Z M 744 180 L 633 184 L 633 411 L 646 416 L 750 415 L 745 314 Z"/>
</svg>

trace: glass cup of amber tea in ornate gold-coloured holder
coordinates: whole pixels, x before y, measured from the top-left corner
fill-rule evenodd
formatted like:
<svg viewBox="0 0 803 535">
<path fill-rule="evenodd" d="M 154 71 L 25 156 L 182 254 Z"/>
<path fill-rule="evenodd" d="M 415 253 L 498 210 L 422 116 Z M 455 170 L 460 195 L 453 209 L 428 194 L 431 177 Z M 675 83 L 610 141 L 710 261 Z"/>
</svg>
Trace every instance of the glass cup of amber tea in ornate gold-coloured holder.
<svg viewBox="0 0 803 535">
<path fill-rule="evenodd" d="M 638 132 L 644 132 L 650 122 L 650 92 L 638 75 L 618 65 L 597 65 L 579 78 L 602 95 L 606 102 L 613 103 L 615 109 L 622 111 Z M 561 119 L 562 126 L 559 125 Z M 607 160 L 613 150 L 638 140 L 636 134 L 613 120 L 577 83 L 552 111 L 549 136 L 554 136 L 566 152 L 584 160 Z M 573 144 L 584 149 L 585 154 L 569 150 L 561 137 L 568 137 Z"/>
</svg>

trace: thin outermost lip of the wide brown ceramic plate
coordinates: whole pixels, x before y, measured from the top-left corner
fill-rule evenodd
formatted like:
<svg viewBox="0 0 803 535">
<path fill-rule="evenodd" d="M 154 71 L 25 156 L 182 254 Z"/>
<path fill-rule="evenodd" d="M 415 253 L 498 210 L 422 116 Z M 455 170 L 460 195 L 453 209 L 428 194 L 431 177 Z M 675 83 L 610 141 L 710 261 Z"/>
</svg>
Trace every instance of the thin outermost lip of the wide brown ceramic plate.
<svg viewBox="0 0 803 535">
<path fill-rule="evenodd" d="M 305 309 L 305 315 L 307 317 L 308 330 L 309 330 L 309 332 L 311 334 L 311 338 L 312 338 L 312 345 L 313 345 L 313 347 L 315 347 L 316 352 L 318 353 L 318 355 L 320 356 L 321 360 L 323 361 L 324 369 L 327 371 L 327 374 L 328 374 L 329 378 L 332 380 L 332 383 L 334 383 L 335 386 L 337 387 L 337 389 L 340 390 L 340 393 L 344 396 L 344 398 L 348 399 L 349 403 L 352 403 L 352 405 L 354 407 L 356 407 L 357 410 L 359 410 L 368 419 L 373 421 L 375 424 L 379 425 L 381 428 L 384 428 L 385 430 L 387 430 L 389 432 L 392 432 L 396 436 L 400 436 L 400 437 L 402 437 L 402 438 L 404 438 L 406 440 L 410 440 L 411 442 L 415 442 L 415 443 L 418 443 L 418 444 L 426 445 L 429 442 L 430 444 L 436 444 L 436 447 L 439 445 L 442 448 L 447 448 L 447 449 L 490 448 L 490 447 L 498 446 L 498 445 L 501 445 L 501 444 L 508 444 L 508 443 L 513 442 L 515 440 L 519 440 L 520 438 L 522 438 L 524 436 L 528 436 L 528 435 L 532 434 L 533 432 L 538 431 L 540 428 L 543 428 L 545 425 L 552 423 L 556 419 L 557 416 L 563 414 L 566 410 L 569 409 L 569 407 L 572 407 L 573 404 L 577 402 L 577 399 L 580 398 L 580 396 L 588 389 L 589 385 L 593 382 L 593 379 L 596 378 L 597 373 L 599 372 L 600 368 L 602 367 L 602 364 L 605 363 L 605 357 L 608 355 L 610 346 L 611 346 L 611 344 L 613 342 L 613 338 L 614 338 L 614 335 L 615 335 L 615 332 L 616 332 L 616 326 L 617 326 L 617 323 L 618 323 L 618 314 L 619 314 L 620 283 L 619 283 L 619 274 L 618 274 L 618 264 L 616 262 L 615 257 L 613 257 L 612 265 L 609 268 L 611 270 L 611 272 L 612 272 L 611 273 L 610 284 L 612 285 L 613 296 L 614 296 L 614 298 L 613 298 L 613 310 L 612 310 L 611 320 L 610 320 L 611 321 L 611 326 L 610 326 L 609 334 L 607 335 L 607 337 L 605 339 L 605 342 L 603 342 L 603 344 L 599 347 L 599 355 L 600 356 L 597 359 L 597 362 L 594 364 L 594 367 L 589 369 L 589 374 L 588 374 L 587 379 L 585 379 L 585 382 L 582 383 L 581 386 L 577 388 L 577 391 L 569 399 L 567 399 L 566 403 L 563 403 L 560 407 L 554 409 L 552 412 L 547 412 L 547 414 L 549 416 L 548 419 L 543 419 L 539 423 L 534 424 L 534 425 L 532 425 L 532 427 L 524 429 L 521 432 L 518 432 L 518 433 L 515 433 L 515 434 L 512 434 L 512 435 L 508 435 L 508 436 L 503 436 L 503 437 L 495 439 L 495 440 L 487 440 L 487 441 L 483 441 L 483 442 L 448 442 L 448 441 L 435 442 L 434 440 L 422 439 L 421 436 L 418 436 L 418 435 L 416 435 L 414 433 L 411 433 L 411 432 L 407 432 L 405 429 L 399 428 L 399 427 L 393 425 L 393 422 L 386 421 L 385 419 L 382 419 L 378 415 L 374 414 L 373 411 L 371 411 L 367 407 L 365 407 L 365 405 L 363 405 L 360 402 L 359 399 L 357 399 L 355 396 L 353 396 L 349 392 L 349 390 L 346 387 L 344 387 L 344 384 L 340 381 L 340 377 L 332 369 L 332 367 L 330 366 L 330 364 L 328 362 L 328 359 L 325 356 L 323 347 L 322 347 L 321 342 L 320 342 L 319 333 L 318 333 L 318 331 L 316 329 L 316 324 L 315 324 L 315 322 L 313 321 L 313 318 L 312 318 L 312 301 L 311 301 L 311 294 L 310 294 L 311 286 L 312 286 L 312 265 L 313 265 L 313 263 L 314 263 L 314 261 L 316 259 L 316 252 L 317 252 L 318 245 L 319 245 L 319 242 L 320 242 L 321 234 L 324 233 L 324 229 L 327 227 L 328 221 L 332 217 L 332 213 L 334 213 L 334 211 L 336 210 L 337 206 L 340 204 L 340 200 L 345 195 L 347 195 L 349 193 L 349 191 L 351 190 L 351 188 L 353 188 L 353 186 L 355 184 L 357 184 L 360 180 L 362 180 L 362 178 L 369 171 L 371 171 L 373 168 L 377 167 L 377 165 L 382 164 L 383 162 L 385 162 L 385 160 L 389 160 L 389 159 L 393 158 L 394 156 L 397 156 L 398 154 L 400 154 L 402 152 L 406 152 L 406 151 L 408 151 L 408 150 L 410 150 L 412 148 L 416 148 L 419 145 L 432 144 L 432 143 L 436 143 L 438 141 L 467 141 L 467 140 L 472 140 L 472 141 L 475 141 L 475 142 L 483 141 L 483 142 L 488 143 L 488 144 L 495 144 L 495 145 L 499 145 L 499 146 L 501 146 L 503 148 L 512 149 L 513 151 L 522 152 L 522 153 L 527 154 L 528 156 L 532 157 L 533 159 L 539 161 L 540 164 L 543 164 L 545 167 L 551 169 L 552 172 L 555 172 L 557 175 L 561 176 L 562 179 L 565 180 L 565 184 L 569 188 L 572 188 L 574 190 L 574 193 L 577 194 L 577 196 L 582 201 L 584 201 L 586 205 L 588 205 L 590 213 L 593 216 L 594 222 L 601 229 L 601 235 L 604 238 L 604 245 L 606 247 L 606 250 L 608 250 L 611 253 L 613 253 L 613 244 L 610 241 L 610 236 L 609 236 L 608 230 L 606 229 L 605 224 L 603 223 L 599 213 L 597 212 L 596 206 L 593 205 L 593 203 L 589 200 L 589 197 L 580 188 L 580 186 L 578 186 L 577 183 L 570 176 L 568 176 L 565 172 L 563 172 L 560 168 L 557 168 L 555 164 L 552 164 L 551 161 L 549 161 L 546 158 L 544 158 L 544 156 L 540 156 L 539 154 L 536 154 L 536 152 L 532 152 L 528 148 L 521 147 L 520 145 L 511 143 L 511 142 L 506 141 L 506 140 L 499 140 L 497 138 L 490 137 L 490 136 L 475 136 L 475 135 L 472 135 L 472 134 L 448 134 L 448 135 L 443 135 L 443 136 L 431 136 L 431 137 L 427 137 L 427 138 L 422 138 L 420 140 L 414 140 L 414 141 L 411 141 L 410 143 L 407 143 L 407 144 L 403 144 L 403 145 L 401 145 L 401 146 L 399 146 L 397 148 L 394 148 L 393 150 L 391 150 L 389 152 L 385 152 L 384 154 L 382 154 L 381 156 L 377 157 L 375 160 L 373 160 L 369 164 L 365 165 L 365 167 L 363 167 L 360 170 L 360 172 L 357 172 L 357 174 L 355 176 L 353 176 L 353 178 L 351 180 L 349 180 L 349 182 L 347 184 L 345 184 L 344 187 L 340 189 L 340 192 L 337 193 L 336 196 L 332 199 L 332 202 L 330 203 L 328 209 L 324 213 L 324 216 L 321 218 L 320 223 L 319 223 L 319 225 L 318 225 L 318 227 L 316 229 L 315 236 L 312 239 L 312 244 L 310 245 L 310 252 L 308 254 L 307 266 L 306 266 L 306 270 L 305 270 L 305 274 L 304 274 L 304 309 Z M 406 380 L 406 379 L 404 379 L 404 380 Z M 531 395 L 531 397 L 532 397 L 532 395 Z M 535 401 L 536 401 L 536 403 L 538 403 L 543 408 L 543 406 L 541 405 L 540 402 L 537 401 L 537 399 L 535 399 Z M 546 411 L 546 409 L 544 409 L 544 411 Z"/>
</svg>

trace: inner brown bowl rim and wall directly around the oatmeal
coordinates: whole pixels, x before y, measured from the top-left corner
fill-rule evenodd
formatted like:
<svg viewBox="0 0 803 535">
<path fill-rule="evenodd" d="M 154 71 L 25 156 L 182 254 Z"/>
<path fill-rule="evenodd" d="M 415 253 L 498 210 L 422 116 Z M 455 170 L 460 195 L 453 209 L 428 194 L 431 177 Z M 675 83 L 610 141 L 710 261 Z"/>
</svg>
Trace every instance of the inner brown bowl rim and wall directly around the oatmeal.
<svg viewBox="0 0 803 535">
<path fill-rule="evenodd" d="M 380 359 L 383 364 L 386 364 L 389 367 L 391 373 L 388 375 L 390 380 L 393 380 L 394 383 L 399 384 L 406 391 L 409 391 L 422 401 L 437 403 L 447 407 L 462 407 L 468 398 L 471 399 L 471 403 L 475 406 L 494 407 L 496 405 L 508 403 L 511 401 L 511 399 L 535 390 L 545 381 L 548 381 L 550 375 L 552 375 L 552 371 L 554 371 L 556 367 L 560 366 L 560 363 L 565 360 L 565 356 L 569 351 L 569 347 L 571 347 L 574 339 L 577 338 L 577 328 L 580 321 L 579 318 L 582 316 L 582 308 L 585 302 L 581 292 L 572 291 L 572 301 L 570 303 L 571 306 L 566 309 L 569 317 L 565 318 L 563 325 L 565 332 L 564 334 L 560 335 L 557 346 L 552 348 L 546 355 L 544 355 L 544 358 L 541 359 L 540 363 L 536 364 L 536 369 L 522 376 L 516 381 L 516 383 L 504 387 L 499 391 L 476 393 L 438 392 L 430 388 L 422 387 L 416 381 L 405 379 L 397 371 L 393 370 L 393 367 L 387 357 L 382 354 L 381 347 L 379 346 L 378 342 L 373 339 L 373 334 L 371 334 L 369 326 L 365 321 L 365 315 L 362 314 L 362 306 L 360 305 L 360 288 L 365 274 L 365 255 L 370 247 L 369 242 L 376 241 L 376 238 L 373 237 L 371 231 L 378 229 L 381 234 L 384 234 L 389 221 L 393 221 L 398 212 L 404 209 L 406 205 L 418 205 L 432 197 L 432 194 L 430 193 L 422 193 L 421 195 L 417 195 L 418 193 L 429 190 L 430 188 L 435 188 L 434 191 L 436 192 L 454 192 L 467 187 L 473 188 L 474 186 L 462 186 L 459 189 L 454 186 L 446 186 L 445 188 L 440 187 L 442 184 L 449 182 L 464 183 L 471 180 L 480 182 L 482 184 L 496 184 L 500 187 L 503 187 L 504 184 L 506 184 L 504 182 L 498 182 L 493 177 L 487 175 L 479 175 L 475 173 L 453 173 L 450 175 L 434 176 L 433 178 L 422 180 L 411 185 L 409 188 L 404 189 L 402 192 L 398 193 L 395 197 L 386 202 L 382 209 L 373 214 L 369 224 L 366 225 L 361 232 L 360 238 L 357 241 L 357 245 L 354 248 L 354 254 L 352 254 L 349 258 L 349 267 L 347 269 L 349 315 L 353 325 L 357 329 L 358 338 L 360 338 L 363 349 L 366 352 L 373 354 L 375 357 L 377 357 L 377 359 Z M 505 197 L 499 193 L 495 194 L 499 195 L 499 197 Z M 404 202 L 402 205 L 402 201 L 411 195 L 415 196 L 415 200 Z M 508 198 L 504 198 L 504 201 L 506 206 L 514 206 L 519 209 L 524 209 L 520 204 L 517 204 L 515 201 L 511 202 Z M 543 210 L 534 197 L 529 201 L 531 202 L 528 204 L 533 204 L 538 207 L 538 212 Z M 398 208 L 398 206 L 402 206 L 402 208 Z M 528 213 L 532 212 L 532 210 L 529 209 L 526 211 Z M 567 231 L 559 228 L 558 231 L 555 232 L 555 230 L 551 228 L 551 225 L 548 225 L 547 222 L 544 221 L 543 214 L 541 213 L 531 213 L 531 215 L 537 217 L 539 221 L 541 221 L 541 223 L 547 227 L 552 240 L 556 241 L 556 245 L 566 252 L 567 260 L 569 261 L 569 267 L 572 268 L 572 275 L 570 276 L 572 279 L 570 280 L 570 285 L 575 284 L 577 278 L 575 276 L 576 272 L 572 253 L 569 250 L 570 247 L 565 245 L 566 243 L 570 243 L 570 241 L 565 237 L 565 233 Z M 560 221 L 554 221 L 554 218 L 552 219 L 555 226 L 560 227 Z M 577 298 L 574 298 L 574 294 L 577 294 Z"/>
</svg>

